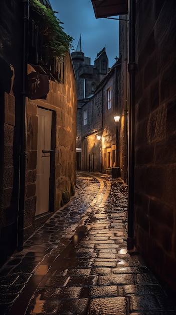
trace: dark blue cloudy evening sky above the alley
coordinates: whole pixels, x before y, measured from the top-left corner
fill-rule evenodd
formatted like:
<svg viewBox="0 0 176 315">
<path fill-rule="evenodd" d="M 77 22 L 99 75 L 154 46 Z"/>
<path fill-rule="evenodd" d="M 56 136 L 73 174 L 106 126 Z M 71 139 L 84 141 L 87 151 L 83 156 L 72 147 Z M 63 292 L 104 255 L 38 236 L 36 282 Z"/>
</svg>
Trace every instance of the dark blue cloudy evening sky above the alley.
<svg viewBox="0 0 176 315">
<path fill-rule="evenodd" d="M 118 21 L 96 19 L 91 0 L 50 0 L 50 3 L 59 12 L 57 17 L 64 23 L 64 32 L 74 38 L 74 49 L 81 34 L 82 52 L 91 58 L 91 64 L 106 47 L 109 67 L 112 67 L 118 57 Z"/>
</svg>

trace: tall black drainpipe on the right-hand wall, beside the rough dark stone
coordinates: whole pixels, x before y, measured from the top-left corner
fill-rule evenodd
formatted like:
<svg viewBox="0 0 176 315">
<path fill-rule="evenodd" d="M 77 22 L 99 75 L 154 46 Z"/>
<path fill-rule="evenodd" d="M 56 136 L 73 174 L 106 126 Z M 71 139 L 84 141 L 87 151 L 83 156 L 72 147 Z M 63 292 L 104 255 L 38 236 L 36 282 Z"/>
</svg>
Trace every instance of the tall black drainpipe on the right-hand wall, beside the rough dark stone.
<svg viewBox="0 0 176 315">
<path fill-rule="evenodd" d="M 128 237 L 127 249 L 134 248 L 134 123 L 135 123 L 135 2 L 129 1 L 129 154 L 128 154 Z"/>
</svg>

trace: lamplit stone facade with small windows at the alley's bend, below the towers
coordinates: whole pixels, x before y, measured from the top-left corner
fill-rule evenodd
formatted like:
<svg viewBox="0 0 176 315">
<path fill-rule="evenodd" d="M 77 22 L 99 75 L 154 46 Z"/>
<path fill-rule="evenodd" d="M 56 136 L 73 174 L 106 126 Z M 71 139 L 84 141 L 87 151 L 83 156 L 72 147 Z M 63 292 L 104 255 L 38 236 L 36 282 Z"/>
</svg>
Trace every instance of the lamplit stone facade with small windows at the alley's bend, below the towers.
<svg viewBox="0 0 176 315">
<path fill-rule="evenodd" d="M 111 107 L 108 108 L 108 91 L 111 90 Z M 87 111 L 87 123 L 84 112 Z M 120 114 L 115 123 L 114 114 Z M 118 60 L 97 86 L 94 95 L 81 107 L 82 170 L 111 174 L 118 167 L 123 170 L 124 110 L 121 98 L 121 60 Z M 126 131 L 127 132 L 127 131 Z M 101 139 L 97 139 L 97 135 Z"/>
</svg>

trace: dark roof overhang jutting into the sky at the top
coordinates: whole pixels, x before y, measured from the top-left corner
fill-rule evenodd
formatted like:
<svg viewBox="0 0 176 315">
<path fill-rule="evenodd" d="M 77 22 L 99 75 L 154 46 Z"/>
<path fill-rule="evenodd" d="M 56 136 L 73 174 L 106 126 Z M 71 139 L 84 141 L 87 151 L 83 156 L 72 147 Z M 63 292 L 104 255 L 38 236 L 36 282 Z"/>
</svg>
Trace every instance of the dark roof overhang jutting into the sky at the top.
<svg viewBox="0 0 176 315">
<path fill-rule="evenodd" d="M 128 14 L 128 0 L 91 0 L 96 19 Z"/>
</svg>

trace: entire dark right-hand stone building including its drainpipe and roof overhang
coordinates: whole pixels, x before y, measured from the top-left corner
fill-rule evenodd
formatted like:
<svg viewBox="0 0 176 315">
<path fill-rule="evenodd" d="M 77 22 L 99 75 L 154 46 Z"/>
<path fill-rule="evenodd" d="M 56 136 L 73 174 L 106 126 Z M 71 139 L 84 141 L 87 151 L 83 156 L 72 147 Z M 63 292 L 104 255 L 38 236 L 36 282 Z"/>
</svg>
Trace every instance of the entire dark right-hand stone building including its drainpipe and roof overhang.
<svg viewBox="0 0 176 315">
<path fill-rule="evenodd" d="M 129 43 L 128 249 L 136 247 L 175 294 L 175 1 L 91 1 L 96 18 L 129 17 L 127 40 L 119 22 L 122 69 Z"/>
</svg>

